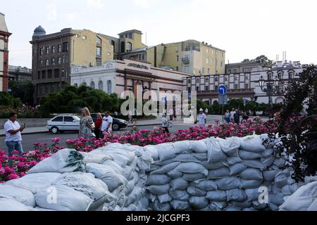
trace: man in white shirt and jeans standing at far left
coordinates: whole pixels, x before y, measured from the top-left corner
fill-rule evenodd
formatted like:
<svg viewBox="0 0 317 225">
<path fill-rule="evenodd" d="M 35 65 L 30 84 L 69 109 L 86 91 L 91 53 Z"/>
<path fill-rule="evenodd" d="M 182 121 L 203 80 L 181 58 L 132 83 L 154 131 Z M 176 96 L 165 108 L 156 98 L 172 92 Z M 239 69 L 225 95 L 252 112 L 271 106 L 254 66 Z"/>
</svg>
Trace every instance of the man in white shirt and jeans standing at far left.
<svg viewBox="0 0 317 225">
<path fill-rule="evenodd" d="M 10 113 L 8 121 L 4 124 L 6 131 L 6 146 L 8 147 L 8 156 L 12 156 L 13 150 L 17 150 L 20 155 L 23 153 L 21 132 L 25 129 L 25 124 L 20 127 L 17 113 Z"/>
</svg>

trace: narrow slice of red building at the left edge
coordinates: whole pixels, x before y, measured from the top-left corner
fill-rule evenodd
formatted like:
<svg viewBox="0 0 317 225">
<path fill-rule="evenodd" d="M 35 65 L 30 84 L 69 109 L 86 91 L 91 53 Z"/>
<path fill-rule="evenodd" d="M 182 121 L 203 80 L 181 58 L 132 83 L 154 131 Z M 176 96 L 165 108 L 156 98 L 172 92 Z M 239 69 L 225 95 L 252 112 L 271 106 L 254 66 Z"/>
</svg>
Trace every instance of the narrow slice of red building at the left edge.
<svg viewBox="0 0 317 225">
<path fill-rule="evenodd" d="M 0 91 L 8 91 L 8 38 L 4 14 L 0 13 Z"/>
</svg>

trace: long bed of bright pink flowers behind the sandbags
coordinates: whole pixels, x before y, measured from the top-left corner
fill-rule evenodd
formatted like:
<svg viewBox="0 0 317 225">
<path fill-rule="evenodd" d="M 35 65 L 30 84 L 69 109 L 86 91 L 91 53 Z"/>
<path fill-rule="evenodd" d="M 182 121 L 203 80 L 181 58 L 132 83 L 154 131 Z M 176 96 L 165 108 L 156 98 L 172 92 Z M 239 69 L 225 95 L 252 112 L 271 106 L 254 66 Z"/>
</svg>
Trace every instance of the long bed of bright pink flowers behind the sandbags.
<svg viewBox="0 0 317 225">
<path fill-rule="evenodd" d="M 132 129 L 120 136 L 106 135 L 104 139 L 92 140 L 92 144 L 87 144 L 87 139 L 67 140 L 67 148 L 76 149 L 80 152 L 90 152 L 101 146 L 106 146 L 107 143 L 130 143 L 136 146 L 158 145 L 160 143 L 184 141 L 184 140 L 201 140 L 211 136 L 226 138 L 231 136 L 248 136 L 251 134 L 268 134 L 274 133 L 277 130 L 277 122 L 275 120 L 261 121 L 259 117 L 248 120 L 244 124 L 216 124 L 208 127 L 190 127 L 182 129 L 174 134 L 165 134 L 162 129 L 155 128 L 154 130 L 137 130 Z M 11 179 L 17 179 L 24 176 L 25 173 L 37 165 L 38 162 L 45 158 L 51 157 L 58 150 L 65 147 L 60 146 L 61 139 L 52 139 L 51 147 L 47 143 L 35 143 L 35 148 L 29 153 L 18 155 L 15 152 L 12 157 L 5 155 L 0 151 L 0 183 Z"/>
</svg>

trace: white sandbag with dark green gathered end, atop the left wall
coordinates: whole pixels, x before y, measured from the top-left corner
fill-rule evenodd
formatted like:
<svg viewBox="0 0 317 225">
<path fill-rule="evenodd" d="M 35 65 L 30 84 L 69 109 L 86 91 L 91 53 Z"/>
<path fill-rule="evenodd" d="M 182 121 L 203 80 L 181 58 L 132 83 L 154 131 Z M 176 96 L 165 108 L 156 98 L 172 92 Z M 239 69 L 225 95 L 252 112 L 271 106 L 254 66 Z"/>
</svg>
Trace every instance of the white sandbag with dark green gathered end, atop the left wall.
<svg viewBox="0 0 317 225">
<path fill-rule="evenodd" d="M 32 167 L 27 174 L 56 172 L 56 173 L 69 173 L 76 171 L 85 171 L 84 156 L 77 150 L 63 149 L 46 158 Z"/>
</svg>

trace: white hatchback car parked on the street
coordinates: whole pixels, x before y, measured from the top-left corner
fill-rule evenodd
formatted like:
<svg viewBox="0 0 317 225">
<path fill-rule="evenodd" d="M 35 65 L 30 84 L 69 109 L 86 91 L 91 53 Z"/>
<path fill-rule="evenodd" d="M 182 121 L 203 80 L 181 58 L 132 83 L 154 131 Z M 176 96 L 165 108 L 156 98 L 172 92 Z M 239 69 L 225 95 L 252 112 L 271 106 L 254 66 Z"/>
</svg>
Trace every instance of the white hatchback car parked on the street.
<svg viewBox="0 0 317 225">
<path fill-rule="evenodd" d="M 63 131 L 79 131 L 80 118 L 77 115 L 57 115 L 47 121 L 46 128 L 53 134 Z"/>
</svg>

